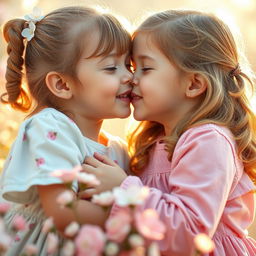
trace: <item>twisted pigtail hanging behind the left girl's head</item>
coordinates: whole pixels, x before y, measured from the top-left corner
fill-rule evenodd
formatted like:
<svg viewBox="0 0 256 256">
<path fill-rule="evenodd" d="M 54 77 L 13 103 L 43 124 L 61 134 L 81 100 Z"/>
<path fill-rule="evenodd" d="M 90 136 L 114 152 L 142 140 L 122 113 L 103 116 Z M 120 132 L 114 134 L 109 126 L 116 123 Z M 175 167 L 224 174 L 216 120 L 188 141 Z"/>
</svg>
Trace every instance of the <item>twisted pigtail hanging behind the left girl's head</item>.
<svg viewBox="0 0 256 256">
<path fill-rule="evenodd" d="M 25 48 L 21 32 L 24 27 L 25 20 L 13 19 L 8 21 L 3 28 L 3 35 L 8 43 L 7 53 L 9 57 L 5 73 L 7 92 L 1 95 L 1 102 L 25 112 L 30 109 L 31 101 L 21 86 Z M 5 99 L 6 96 L 7 99 Z"/>
</svg>

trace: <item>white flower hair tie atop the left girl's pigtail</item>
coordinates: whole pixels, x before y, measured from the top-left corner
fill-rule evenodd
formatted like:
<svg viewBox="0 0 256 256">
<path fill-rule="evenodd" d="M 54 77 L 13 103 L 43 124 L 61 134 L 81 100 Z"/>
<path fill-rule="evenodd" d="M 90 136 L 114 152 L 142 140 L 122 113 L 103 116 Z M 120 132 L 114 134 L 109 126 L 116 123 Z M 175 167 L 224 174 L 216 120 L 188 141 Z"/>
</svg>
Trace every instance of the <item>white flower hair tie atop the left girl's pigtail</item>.
<svg viewBox="0 0 256 256">
<path fill-rule="evenodd" d="M 33 9 L 33 13 L 25 15 L 24 19 L 28 23 L 28 28 L 23 29 L 21 35 L 26 38 L 27 41 L 30 41 L 35 36 L 36 23 L 43 18 L 42 11 L 37 7 Z"/>
</svg>

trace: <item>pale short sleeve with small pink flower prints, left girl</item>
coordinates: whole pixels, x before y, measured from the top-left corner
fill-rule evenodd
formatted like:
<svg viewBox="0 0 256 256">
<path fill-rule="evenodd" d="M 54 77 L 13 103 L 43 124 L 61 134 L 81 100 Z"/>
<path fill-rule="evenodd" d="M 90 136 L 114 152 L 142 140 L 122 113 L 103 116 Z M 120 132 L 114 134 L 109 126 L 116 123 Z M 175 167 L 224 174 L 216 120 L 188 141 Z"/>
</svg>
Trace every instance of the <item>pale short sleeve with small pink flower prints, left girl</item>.
<svg viewBox="0 0 256 256">
<path fill-rule="evenodd" d="M 82 152 L 80 130 L 67 116 L 51 111 L 35 115 L 21 126 L 3 170 L 3 198 L 31 203 L 37 197 L 36 185 L 61 183 L 51 172 L 81 164 Z"/>
</svg>

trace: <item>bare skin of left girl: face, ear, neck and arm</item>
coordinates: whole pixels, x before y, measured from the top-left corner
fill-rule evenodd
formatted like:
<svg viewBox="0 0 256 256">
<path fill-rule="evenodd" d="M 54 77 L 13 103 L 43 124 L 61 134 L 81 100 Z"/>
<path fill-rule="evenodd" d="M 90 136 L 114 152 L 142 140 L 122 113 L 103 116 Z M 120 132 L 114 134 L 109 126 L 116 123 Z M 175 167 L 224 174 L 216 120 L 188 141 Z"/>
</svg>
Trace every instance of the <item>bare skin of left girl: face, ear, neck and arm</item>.
<svg viewBox="0 0 256 256">
<path fill-rule="evenodd" d="M 52 93 L 62 99 L 63 107 L 68 110 L 67 113 L 72 113 L 70 117 L 81 132 L 100 142 L 102 138 L 99 132 L 103 119 L 125 118 L 131 113 L 130 101 L 119 96 L 131 90 L 132 74 L 127 69 L 128 52 L 117 55 L 113 49 L 107 56 L 88 58 L 94 52 L 98 38 L 99 35 L 95 32 L 93 40 L 85 45 L 76 68 L 77 79 L 53 71 L 48 73 L 46 83 Z M 56 199 L 67 190 L 63 184 L 37 188 L 46 216 L 53 217 L 55 226 L 61 233 L 72 221 L 103 226 L 108 216 L 101 207 L 80 199 L 76 201 L 74 210 L 60 208 Z"/>
</svg>

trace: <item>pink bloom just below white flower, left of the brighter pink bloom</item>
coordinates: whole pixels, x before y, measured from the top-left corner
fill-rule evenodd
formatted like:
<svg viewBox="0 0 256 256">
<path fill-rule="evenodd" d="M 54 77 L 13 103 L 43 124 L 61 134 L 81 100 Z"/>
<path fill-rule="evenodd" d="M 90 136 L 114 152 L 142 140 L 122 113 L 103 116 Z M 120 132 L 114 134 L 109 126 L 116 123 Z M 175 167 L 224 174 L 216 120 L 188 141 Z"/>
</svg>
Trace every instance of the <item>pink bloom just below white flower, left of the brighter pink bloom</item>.
<svg viewBox="0 0 256 256">
<path fill-rule="evenodd" d="M 105 223 L 107 237 L 112 241 L 122 242 L 131 230 L 131 221 L 132 218 L 126 211 L 109 218 Z"/>
</svg>

